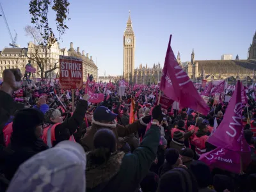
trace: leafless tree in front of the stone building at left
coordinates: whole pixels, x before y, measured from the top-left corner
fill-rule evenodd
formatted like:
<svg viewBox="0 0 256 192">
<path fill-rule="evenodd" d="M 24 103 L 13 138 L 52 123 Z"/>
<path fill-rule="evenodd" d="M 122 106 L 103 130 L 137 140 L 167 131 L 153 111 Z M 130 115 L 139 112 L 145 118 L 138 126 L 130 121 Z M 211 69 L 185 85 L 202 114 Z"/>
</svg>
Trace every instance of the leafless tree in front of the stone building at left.
<svg viewBox="0 0 256 192">
<path fill-rule="evenodd" d="M 38 65 L 38 68 L 40 68 L 40 71 L 36 72 L 39 74 L 39 76 L 44 79 L 47 78 L 48 74 L 54 71 L 57 67 L 57 63 L 54 63 L 54 66 L 46 70 L 46 66 L 51 66 L 47 65 L 47 63 L 50 61 L 48 57 L 48 52 L 51 47 L 48 46 L 48 42 L 44 44 L 43 40 L 44 38 L 42 37 L 40 31 L 38 29 L 34 28 L 33 26 L 26 26 L 24 28 L 24 31 L 26 33 L 26 36 L 29 36 L 30 38 L 33 39 L 34 42 L 34 47 L 33 51 L 28 51 L 27 58 L 33 63 L 36 63 Z M 41 50 L 41 54 L 40 54 Z M 44 50 L 44 54 L 42 54 L 42 50 Z M 41 57 L 43 56 L 44 57 Z"/>
</svg>

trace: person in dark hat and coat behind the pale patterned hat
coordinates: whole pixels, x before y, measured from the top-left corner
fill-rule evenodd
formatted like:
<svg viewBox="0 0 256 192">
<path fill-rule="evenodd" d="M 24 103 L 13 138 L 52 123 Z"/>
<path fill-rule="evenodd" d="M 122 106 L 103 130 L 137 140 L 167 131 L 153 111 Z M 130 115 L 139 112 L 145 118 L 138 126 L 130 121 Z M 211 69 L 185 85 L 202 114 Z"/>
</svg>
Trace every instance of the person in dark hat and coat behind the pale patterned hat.
<svg viewBox="0 0 256 192">
<path fill-rule="evenodd" d="M 4 164 L 6 179 L 11 180 L 24 161 L 48 148 L 40 138 L 43 124 L 44 113 L 39 109 L 22 109 L 15 113 L 11 143 L 8 146 L 13 153 L 8 154 Z"/>
</svg>

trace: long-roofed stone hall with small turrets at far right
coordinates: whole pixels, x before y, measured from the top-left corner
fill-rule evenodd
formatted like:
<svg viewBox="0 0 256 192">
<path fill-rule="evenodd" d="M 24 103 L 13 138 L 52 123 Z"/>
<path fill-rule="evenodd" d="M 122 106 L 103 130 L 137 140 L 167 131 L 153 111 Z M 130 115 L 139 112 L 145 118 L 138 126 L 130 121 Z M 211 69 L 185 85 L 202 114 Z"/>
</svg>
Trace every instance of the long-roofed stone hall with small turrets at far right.
<svg viewBox="0 0 256 192">
<path fill-rule="evenodd" d="M 191 61 L 182 68 L 194 82 L 206 79 L 207 81 L 225 79 L 232 84 L 240 79 L 244 84 L 252 84 L 256 70 L 256 33 L 253 36 L 253 44 L 248 51 L 248 60 L 195 60 L 195 52 L 192 51 Z M 254 79 L 255 82 L 255 79 Z"/>
</svg>

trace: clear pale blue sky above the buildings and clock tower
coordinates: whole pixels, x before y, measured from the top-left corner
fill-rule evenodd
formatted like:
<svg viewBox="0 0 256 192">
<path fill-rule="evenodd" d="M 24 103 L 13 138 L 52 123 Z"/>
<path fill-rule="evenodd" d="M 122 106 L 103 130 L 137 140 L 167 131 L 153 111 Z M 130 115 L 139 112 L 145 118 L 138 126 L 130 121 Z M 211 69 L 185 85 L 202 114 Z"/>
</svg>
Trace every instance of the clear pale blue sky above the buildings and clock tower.
<svg viewBox="0 0 256 192">
<path fill-rule="evenodd" d="M 24 33 L 24 26 L 31 25 L 29 0 L 0 0 L 10 30 L 17 44 L 27 47 L 31 40 Z M 191 60 L 220 60 L 222 54 L 236 54 L 247 59 L 248 48 L 256 31 L 256 1 L 83 1 L 70 0 L 68 30 L 62 36 L 60 47 L 74 48 L 93 56 L 99 67 L 99 76 L 122 75 L 123 45 L 126 22 L 131 10 L 132 27 L 136 36 L 135 67 L 140 63 L 152 67 L 164 64 L 169 35 L 177 56 L 182 62 Z M 49 22 L 56 28 L 54 15 L 49 13 Z M 51 17 L 52 15 L 52 17 Z M 52 20 L 51 20 L 52 19 Z M 0 50 L 8 47 L 10 36 L 0 17 Z"/>
</svg>

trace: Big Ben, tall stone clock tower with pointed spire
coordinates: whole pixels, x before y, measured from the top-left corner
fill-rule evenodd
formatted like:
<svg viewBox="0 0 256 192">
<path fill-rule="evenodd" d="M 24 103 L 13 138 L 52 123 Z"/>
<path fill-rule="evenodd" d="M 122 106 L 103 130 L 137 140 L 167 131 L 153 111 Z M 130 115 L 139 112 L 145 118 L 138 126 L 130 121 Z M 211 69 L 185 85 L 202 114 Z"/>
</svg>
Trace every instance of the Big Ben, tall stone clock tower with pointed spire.
<svg viewBox="0 0 256 192">
<path fill-rule="evenodd" d="M 131 14 L 126 23 L 126 29 L 123 36 L 124 47 L 124 72 L 123 76 L 126 81 L 134 80 L 134 51 L 135 51 L 135 36 L 132 29 Z"/>
</svg>

